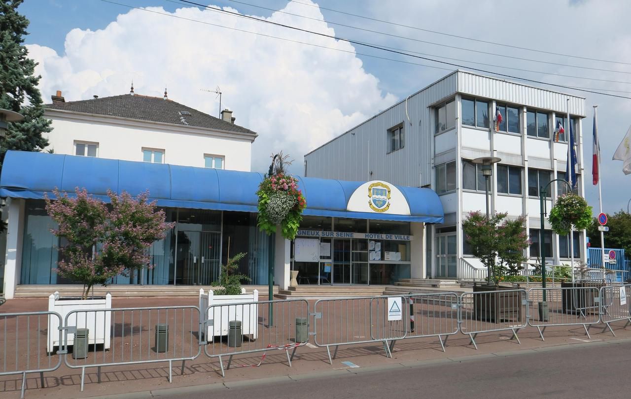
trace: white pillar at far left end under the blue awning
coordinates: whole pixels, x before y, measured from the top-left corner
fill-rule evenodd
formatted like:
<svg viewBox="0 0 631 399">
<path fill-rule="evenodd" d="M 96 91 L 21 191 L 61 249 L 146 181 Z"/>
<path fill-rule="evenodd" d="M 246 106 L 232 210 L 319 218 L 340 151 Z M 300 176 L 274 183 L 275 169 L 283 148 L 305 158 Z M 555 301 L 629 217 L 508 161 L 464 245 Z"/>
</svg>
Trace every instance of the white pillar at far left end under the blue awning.
<svg viewBox="0 0 631 399">
<path fill-rule="evenodd" d="M 4 298 L 13 299 L 15 288 L 20 282 L 24 236 L 24 200 L 8 198 L 4 211 L 8 212 L 4 259 Z"/>
</svg>

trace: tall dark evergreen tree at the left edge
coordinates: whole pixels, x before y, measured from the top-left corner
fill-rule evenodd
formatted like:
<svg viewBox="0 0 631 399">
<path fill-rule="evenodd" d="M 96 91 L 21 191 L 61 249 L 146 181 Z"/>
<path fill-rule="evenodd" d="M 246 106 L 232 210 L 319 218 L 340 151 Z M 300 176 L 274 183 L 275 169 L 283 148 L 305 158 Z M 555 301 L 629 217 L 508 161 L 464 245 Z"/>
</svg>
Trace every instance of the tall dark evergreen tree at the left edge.
<svg viewBox="0 0 631 399">
<path fill-rule="evenodd" d="M 48 145 L 42 133 L 52 130 L 44 118 L 42 95 L 37 88 L 41 76 L 33 76 L 37 63 L 27 57 L 23 45 L 28 20 L 18 14 L 23 0 L 0 0 L 0 108 L 19 112 L 21 122 L 9 124 L 0 142 L 0 168 L 9 149 L 41 151 Z"/>
</svg>

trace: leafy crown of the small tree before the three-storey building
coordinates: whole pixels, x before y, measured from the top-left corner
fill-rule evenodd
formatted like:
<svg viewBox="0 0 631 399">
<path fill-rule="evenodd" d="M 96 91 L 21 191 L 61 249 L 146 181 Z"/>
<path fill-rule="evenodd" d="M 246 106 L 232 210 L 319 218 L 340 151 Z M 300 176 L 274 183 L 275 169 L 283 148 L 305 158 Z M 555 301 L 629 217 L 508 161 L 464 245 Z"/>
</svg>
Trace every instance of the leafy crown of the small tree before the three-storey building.
<svg viewBox="0 0 631 399">
<path fill-rule="evenodd" d="M 524 250 L 530 245 L 526 236 L 526 218 L 507 219 L 507 213 L 489 217 L 481 212 L 470 212 L 463 221 L 465 239 L 471 252 L 490 270 L 491 279 L 497 285 L 505 274 L 517 275 L 526 262 Z"/>
</svg>

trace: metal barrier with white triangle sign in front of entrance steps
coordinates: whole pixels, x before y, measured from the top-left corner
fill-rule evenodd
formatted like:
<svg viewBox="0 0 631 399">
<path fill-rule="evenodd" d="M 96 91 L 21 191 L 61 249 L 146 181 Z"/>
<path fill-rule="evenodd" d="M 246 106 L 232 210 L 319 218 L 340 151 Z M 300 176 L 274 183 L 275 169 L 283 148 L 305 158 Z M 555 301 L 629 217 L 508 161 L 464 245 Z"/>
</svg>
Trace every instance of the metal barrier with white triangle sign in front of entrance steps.
<svg viewBox="0 0 631 399">
<path fill-rule="evenodd" d="M 408 332 L 409 322 L 405 320 L 410 320 L 409 308 L 406 311 L 401 298 L 400 295 L 367 296 L 315 301 L 312 313 L 314 344 L 326 348 L 331 364 L 341 345 L 380 342 L 386 356 L 391 357 L 389 345 L 405 338 Z M 398 303 L 398 313 L 389 317 L 393 303 Z M 331 347 L 335 347 L 333 356 Z"/>
</svg>

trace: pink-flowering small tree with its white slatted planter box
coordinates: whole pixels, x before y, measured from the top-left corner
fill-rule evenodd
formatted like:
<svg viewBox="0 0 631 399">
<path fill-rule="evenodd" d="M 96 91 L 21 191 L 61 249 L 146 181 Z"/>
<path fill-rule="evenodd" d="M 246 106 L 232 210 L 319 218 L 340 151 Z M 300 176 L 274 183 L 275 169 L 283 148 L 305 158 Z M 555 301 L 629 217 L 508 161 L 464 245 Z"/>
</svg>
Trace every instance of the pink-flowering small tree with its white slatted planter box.
<svg viewBox="0 0 631 399">
<path fill-rule="evenodd" d="M 88 299 L 95 285 L 105 286 L 118 274 L 130 270 L 151 267 L 147 250 L 151 243 L 164 238 L 165 231 L 174 224 L 165 223 L 165 213 L 157 210 L 155 202 L 148 202 L 149 193 L 136 199 L 123 192 L 116 195 L 108 191 L 110 205 L 95 199 L 85 190 L 76 188 L 75 196 L 54 191 L 56 199 L 45 197 L 46 211 L 58 224 L 52 233 L 62 238 L 59 248 L 61 259 L 56 269 L 62 277 L 83 283 L 81 299 L 60 298 L 59 292 L 49 297 L 49 311 L 56 311 L 62 318 L 80 309 L 109 309 L 111 296 Z M 98 313 L 98 316 L 97 316 Z M 91 328 L 89 344 L 110 345 L 110 320 L 108 311 L 74 313 L 77 328 Z M 57 318 L 50 318 L 48 350 L 60 345 L 56 332 Z M 79 325 L 80 324 L 80 325 Z M 93 327 L 92 327 L 93 326 Z M 74 335 L 68 334 L 68 345 L 73 345 Z"/>
</svg>

